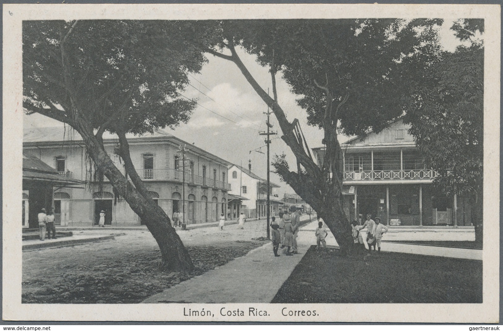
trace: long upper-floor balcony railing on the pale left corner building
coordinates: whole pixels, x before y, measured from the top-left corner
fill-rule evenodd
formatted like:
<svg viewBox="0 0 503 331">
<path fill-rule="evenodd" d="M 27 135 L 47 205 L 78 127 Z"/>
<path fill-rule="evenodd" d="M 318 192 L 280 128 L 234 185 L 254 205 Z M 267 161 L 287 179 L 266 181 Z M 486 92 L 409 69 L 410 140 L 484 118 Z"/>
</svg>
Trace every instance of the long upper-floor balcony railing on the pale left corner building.
<svg viewBox="0 0 503 331">
<path fill-rule="evenodd" d="M 176 169 L 136 169 L 138 176 L 143 180 L 153 180 L 153 181 L 172 181 L 182 183 L 184 181 L 184 174 L 182 171 Z M 124 174 L 124 171 L 121 171 Z M 88 181 L 95 181 L 94 176 L 91 172 L 87 175 Z M 103 178 L 104 181 L 108 181 L 106 177 Z M 202 176 L 193 175 L 190 173 L 185 173 L 185 183 L 194 185 L 208 186 L 224 191 L 230 191 L 230 184 L 221 181 L 215 181 L 209 178 L 203 178 Z"/>
</svg>

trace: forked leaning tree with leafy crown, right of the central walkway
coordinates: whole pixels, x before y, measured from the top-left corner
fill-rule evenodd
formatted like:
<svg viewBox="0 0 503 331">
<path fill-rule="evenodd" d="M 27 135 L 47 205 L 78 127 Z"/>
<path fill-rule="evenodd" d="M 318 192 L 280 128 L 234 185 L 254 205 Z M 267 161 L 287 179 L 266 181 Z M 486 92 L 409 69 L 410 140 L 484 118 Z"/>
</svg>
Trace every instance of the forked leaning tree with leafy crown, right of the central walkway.
<svg viewBox="0 0 503 331">
<path fill-rule="evenodd" d="M 338 133 L 379 132 L 402 115 L 401 84 L 416 65 L 439 52 L 435 25 L 441 20 L 254 20 L 214 23 L 220 42 L 208 52 L 234 62 L 251 87 L 273 110 L 282 139 L 296 157 L 290 171 L 284 157 L 274 162 L 276 172 L 316 210 L 330 228 L 343 254 L 352 249 L 351 226 L 341 204 L 343 153 Z M 270 68 L 273 97 L 250 74 L 236 47 L 257 56 Z M 408 62 L 407 62 L 408 63 Z M 410 68 L 410 65 L 407 66 Z M 326 146 L 318 166 L 303 139 L 297 119 L 287 119 L 280 106 L 276 73 L 281 72 L 297 103 L 306 110 L 308 124 L 323 130 Z"/>
</svg>

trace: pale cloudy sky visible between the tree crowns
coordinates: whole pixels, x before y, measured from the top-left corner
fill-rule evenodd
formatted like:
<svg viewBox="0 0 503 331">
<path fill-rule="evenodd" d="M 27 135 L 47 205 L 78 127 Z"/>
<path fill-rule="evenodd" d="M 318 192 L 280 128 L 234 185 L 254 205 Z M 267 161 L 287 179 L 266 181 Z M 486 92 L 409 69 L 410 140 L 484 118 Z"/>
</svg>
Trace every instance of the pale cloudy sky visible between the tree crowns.
<svg viewBox="0 0 503 331">
<path fill-rule="evenodd" d="M 440 28 L 440 38 L 443 47 L 454 51 L 459 45 L 453 32 L 449 30 L 451 22 L 445 22 Z M 267 91 L 271 90 L 271 76 L 268 68 L 261 67 L 255 56 L 238 51 L 238 55 L 250 73 Z M 189 143 L 205 149 L 231 163 L 248 168 L 251 160 L 251 171 L 262 178 L 267 177 L 267 148 L 264 135 L 259 131 L 266 130 L 267 106 L 248 84 L 237 66 L 227 60 L 207 54 L 208 63 L 199 74 L 190 76 L 190 84 L 181 92 L 185 97 L 197 99 L 198 107 L 187 124 L 180 124 L 174 130 L 165 131 Z M 281 73 L 277 74 L 278 102 L 291 122 L 297 118 L 310 148 L 321 146 L 323 131 L 307 125 L 306 113 L 296 105 L 295 96 L 290 92 Z M 218 114 L 218 115 L 217 115 Z M 280 131 L 278 122 L 271 114 L 271 131 Z M 29 127 L 61 126 L 62 123 L 39 114 L 24 115 L 23 125 Z M 344 142 L 350 137 L 340 137 Z M 275 154 L 285 153 L 289 164 L 296 170 L 296 162 L 289 147 L 281 140 L 281 131 L 271 136 L 271 160 Z M 274 167 L 271 166 L 271 171 Z M 280 197 L 284 193 L 294 193 L 293 189 L 282 183 L 279 177 L 271 173 L 271 181 L 280 185 L 274 189 L 274 194 Z"/>
</svg>

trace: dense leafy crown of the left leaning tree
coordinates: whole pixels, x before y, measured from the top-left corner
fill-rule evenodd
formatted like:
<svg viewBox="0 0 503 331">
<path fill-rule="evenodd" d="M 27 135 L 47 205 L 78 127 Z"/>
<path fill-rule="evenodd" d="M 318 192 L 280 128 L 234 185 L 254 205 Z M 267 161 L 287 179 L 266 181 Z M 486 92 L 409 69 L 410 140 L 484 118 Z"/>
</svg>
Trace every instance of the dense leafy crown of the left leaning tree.
<svg viewBox="0 0 503 331">
<path fill-rule="evenodd" d="M 206 62 L 205 36 L 174 21 L 24 21 L 24 107 L 110 132 L 187 122 L 196 103 L 177 92 Z"/>
</svg>

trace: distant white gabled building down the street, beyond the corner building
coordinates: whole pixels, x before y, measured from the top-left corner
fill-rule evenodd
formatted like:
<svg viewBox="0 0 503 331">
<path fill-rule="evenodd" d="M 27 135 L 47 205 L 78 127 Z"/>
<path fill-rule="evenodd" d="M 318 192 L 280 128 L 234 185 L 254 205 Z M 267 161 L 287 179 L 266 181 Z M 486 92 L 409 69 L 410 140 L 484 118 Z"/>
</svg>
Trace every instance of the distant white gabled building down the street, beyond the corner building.
<svg viewBox="0 0 503 331">
<path fill-rule="evenodd" d="M 241 204 L 241 211 L 246 217 L 266 217 L 267 216 L 267 180 L 251 172 L 251 163 L 248 163 L 248 170 L 240 165 L 232 164 L 228 168 L 229 184 L 231 191 L 229 194 L 243 197 L 246 200 Z M 269 202 L 270 215 L 279 213 L 279 206 L 283 202 L 275 195 L 274 189 L 280 186 L 270 182 Z"/>
</svg>

